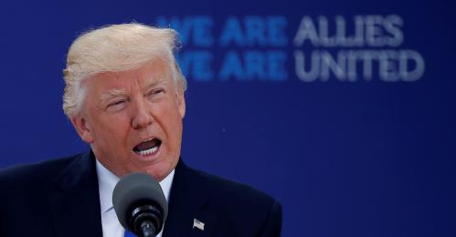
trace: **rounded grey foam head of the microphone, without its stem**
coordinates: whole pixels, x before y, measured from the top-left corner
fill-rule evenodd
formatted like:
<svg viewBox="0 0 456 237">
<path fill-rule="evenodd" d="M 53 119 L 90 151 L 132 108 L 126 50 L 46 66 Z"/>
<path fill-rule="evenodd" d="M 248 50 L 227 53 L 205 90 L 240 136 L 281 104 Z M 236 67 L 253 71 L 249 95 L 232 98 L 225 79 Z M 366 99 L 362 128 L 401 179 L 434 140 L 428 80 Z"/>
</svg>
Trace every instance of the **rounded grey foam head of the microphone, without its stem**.
<svg viewBox="0 0 456 237">
<path fill-rule="evenodd" d="M 148 205 L 161 211 L 159 216 L 163 220 L 160 220 L 160 226 L 156 227 L 157 233 L 162 229 L 168 214 L 168 203 L 160 184 L 151 176 L 140 172 L 134 172 L 119 180 L 112 192 L 112 205 L 119 222 L 131 232 L 135 232 L 132 220 L 135 208 Z"/>
</svg>

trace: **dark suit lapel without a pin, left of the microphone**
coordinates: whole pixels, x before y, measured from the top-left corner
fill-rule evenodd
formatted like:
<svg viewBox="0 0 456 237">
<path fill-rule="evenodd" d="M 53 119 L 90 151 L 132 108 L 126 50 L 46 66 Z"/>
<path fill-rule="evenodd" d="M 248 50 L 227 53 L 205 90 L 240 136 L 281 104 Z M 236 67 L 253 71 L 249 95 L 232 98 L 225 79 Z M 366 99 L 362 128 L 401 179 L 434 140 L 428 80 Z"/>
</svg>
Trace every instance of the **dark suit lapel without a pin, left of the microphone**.
<svg viewBox="0 0 456 237">
<path fill-rule="evenodd" d="M 50 210 L 57 236 L 101 237 L 101 211 L 92 152 L 73 160 L 55 180 Z"/>
</svg>

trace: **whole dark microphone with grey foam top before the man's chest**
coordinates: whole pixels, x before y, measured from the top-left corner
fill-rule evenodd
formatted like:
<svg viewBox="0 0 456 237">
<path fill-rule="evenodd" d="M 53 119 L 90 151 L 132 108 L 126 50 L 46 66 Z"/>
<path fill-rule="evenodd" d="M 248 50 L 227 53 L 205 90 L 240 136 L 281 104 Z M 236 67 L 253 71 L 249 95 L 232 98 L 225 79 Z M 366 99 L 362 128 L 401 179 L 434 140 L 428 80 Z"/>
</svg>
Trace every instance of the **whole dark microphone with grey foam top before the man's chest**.
<svg viewBox="0 0 456 237">
<path fill-rule="evenodd" d="M 147 174 L 125 176 L 112 192 L 112 205 L 123 228 L 142 237 L 162 231 L 168 203 L 160 184 Z"/>
</svg>

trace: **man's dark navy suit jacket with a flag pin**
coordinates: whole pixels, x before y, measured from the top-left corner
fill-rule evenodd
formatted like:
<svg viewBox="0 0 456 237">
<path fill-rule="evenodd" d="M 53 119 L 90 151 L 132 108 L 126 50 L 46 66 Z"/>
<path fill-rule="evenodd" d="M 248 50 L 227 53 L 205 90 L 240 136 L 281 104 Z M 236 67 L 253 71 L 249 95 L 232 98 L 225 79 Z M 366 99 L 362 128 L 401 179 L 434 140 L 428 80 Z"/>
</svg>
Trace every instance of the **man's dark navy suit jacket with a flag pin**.
<svg viewBox="0 0 456 237">
<path fill-rule="evenodd" d="M 179 161 L 163 237 L 280 235 L 277 201 Z M 0 237 L 10 236 L 102 236 L 91 152 L 0 171 Z"/>
</svg>

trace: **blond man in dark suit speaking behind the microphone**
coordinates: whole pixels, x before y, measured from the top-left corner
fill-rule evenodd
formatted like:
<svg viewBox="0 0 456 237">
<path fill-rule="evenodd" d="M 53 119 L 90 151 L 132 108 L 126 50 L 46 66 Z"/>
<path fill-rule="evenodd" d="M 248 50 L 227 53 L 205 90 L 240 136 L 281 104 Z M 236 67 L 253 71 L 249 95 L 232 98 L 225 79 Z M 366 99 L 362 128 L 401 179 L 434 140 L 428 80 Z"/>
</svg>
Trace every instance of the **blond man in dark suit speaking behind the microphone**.
<svg viewBox="0 0 456 237">
<path fill-rule="evenodd" d="M 164 237 L 280 236 L 281 205 L 180 160 L 186 80 L 175 31 L 107 26 L 78 37 L 63 108 L 90 152 L 0 172 L 0 236 L 123 236 L 111 195 L 123 176 L 160 181 Z"/>
</svg>

